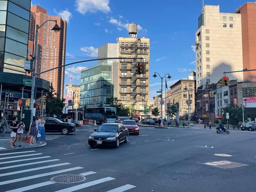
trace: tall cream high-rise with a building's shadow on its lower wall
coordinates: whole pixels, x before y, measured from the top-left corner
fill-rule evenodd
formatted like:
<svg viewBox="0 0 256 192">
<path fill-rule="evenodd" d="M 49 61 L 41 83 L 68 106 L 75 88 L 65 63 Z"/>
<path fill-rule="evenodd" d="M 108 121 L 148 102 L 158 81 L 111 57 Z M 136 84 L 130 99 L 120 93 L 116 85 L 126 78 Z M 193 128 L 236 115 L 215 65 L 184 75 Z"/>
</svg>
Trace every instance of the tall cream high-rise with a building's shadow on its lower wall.
<svg viewBox="0 0 256 192">
<path fill-rule="evenodd" d="M 241 14 L 220 13 L 219 6 L 205 5 L 196 32 L 196 83 L 216 83 L 223 72 L 243 69 Z M 229 73 L 243 81 L 243 73 Z"/>
</svg>

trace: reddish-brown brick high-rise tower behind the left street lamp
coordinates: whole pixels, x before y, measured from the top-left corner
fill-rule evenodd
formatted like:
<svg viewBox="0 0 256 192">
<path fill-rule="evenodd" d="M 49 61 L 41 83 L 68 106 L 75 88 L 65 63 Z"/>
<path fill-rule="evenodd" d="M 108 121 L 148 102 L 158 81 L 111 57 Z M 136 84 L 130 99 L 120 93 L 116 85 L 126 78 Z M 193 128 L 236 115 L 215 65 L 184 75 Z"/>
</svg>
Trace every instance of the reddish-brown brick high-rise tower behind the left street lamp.
<svg viewBox="0 0 256 192">
<path fill-rule="evenodd" d="M 56 95 L 63 98 L 64 78 L 65 78 L 65 55 L 66 55 L 66 31 L 67 22 L 62 20 L 60 16 L 47 14 L 47 10 L 34 5 L 31 7 L 30 16 L 30 32 L 29 32 L 29 53 L 34 55 L 34 40 L 35 40 L 35 27 L 40 26 L 46 20 L 57 20 L 57 25 L 60 27 L 58 33 L 51 32 L 55 26 L 54 21 L 49 21 L 38 30 L 38 46 L 37 46 L 37 65 L 36 72 L 44 72 L 49 69 L 60 67 L 39 75 L 40 78 L 52 82 L 56 91 Z"/>
</svg>

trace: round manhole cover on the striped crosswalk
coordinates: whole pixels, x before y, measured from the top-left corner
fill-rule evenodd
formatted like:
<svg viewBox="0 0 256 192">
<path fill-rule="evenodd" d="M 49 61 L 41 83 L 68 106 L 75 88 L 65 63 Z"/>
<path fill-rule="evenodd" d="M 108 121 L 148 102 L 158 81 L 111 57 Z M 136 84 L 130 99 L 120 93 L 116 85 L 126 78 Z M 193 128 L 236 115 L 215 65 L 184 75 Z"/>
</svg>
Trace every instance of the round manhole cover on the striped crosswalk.
<svg viewBox="0 0 256 192">
<path fill-rule="evenodd" d="M 50 180 L 55 183 L 78 183 L 86 180 L 86 177 L 81 175 L 59 175 L 52 177 Z"/>
</svg>

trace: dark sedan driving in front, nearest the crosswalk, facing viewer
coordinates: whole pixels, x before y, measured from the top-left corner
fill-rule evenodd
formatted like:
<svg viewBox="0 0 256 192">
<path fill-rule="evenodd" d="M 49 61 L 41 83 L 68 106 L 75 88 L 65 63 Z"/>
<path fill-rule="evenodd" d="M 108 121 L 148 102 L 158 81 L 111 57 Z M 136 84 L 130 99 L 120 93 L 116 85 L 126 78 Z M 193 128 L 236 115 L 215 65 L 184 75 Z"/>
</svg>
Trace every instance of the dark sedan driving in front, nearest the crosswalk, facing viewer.
<svg viewBox="0 0 256 192">
<path fill-rule="evenodd" d="M 119 147 L 120 143 L 126 143 L 129 137 L 129 132 L 122 123 L 104 123 L 94 131 L 88 139 L 91 147 L 95 145 Z"/>
</svg>

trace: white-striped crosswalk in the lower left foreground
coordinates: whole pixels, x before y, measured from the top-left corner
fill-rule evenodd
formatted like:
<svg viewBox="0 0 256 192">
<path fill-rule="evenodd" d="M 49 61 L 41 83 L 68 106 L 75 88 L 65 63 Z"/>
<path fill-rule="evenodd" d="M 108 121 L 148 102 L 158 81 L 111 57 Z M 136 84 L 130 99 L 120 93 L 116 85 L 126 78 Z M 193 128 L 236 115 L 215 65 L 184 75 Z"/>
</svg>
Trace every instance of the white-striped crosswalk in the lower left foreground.
<svg viewBox="0 0 256 192">
<path fill-rule="evenodd" d="M 72 174 L 71 176 L 75 175 L 85 179 L 74 182 L 72 185 L 63 185 L 52 180 L 54 177 L 62 177 L 63 174 Z M 110 181 L 117 180 L 113 177 L 101 178 L 99 174 L 92 170 L 86 170 L 81 166 L 72 166 L 70 162 L 62 162 L 60 159 L 54 159 L 33 150 L 0 154 L 1 191 L 21 192 L 36 189 L 37 191 L 67 192 L 83 190 L 93 186 L 100 187 L 99 185 Z M 119 185 L 112 182 L 111 188 L 106 189 L 105 186 L 102 186 L 102 188 L 105 192 L 122 192 L 136 187 L 126 183 Z M 115 186 L 115 188 L 112 186 Z M 87 191 L 90 191 L 90 189 L 87 189 Z M 91 188 L 91 191 L 94 191 L 93 188 Z"/>
</svg>

